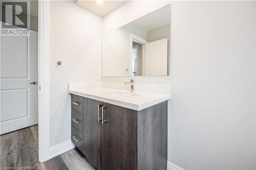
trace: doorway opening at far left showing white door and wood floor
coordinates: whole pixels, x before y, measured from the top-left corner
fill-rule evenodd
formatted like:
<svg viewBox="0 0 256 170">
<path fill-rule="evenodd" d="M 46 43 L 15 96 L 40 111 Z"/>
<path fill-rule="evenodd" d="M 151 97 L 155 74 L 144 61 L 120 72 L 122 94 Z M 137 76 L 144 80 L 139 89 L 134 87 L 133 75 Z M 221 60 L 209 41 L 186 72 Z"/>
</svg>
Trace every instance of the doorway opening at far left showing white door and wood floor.
<svg viewBox="0 0 256 170">
<path fill-rule="evenodd" d="M 0 36 L 0 166 L 39 167 L 38 1 L 1 1 L 1 9 L 9 35 Z"/>
</svg>

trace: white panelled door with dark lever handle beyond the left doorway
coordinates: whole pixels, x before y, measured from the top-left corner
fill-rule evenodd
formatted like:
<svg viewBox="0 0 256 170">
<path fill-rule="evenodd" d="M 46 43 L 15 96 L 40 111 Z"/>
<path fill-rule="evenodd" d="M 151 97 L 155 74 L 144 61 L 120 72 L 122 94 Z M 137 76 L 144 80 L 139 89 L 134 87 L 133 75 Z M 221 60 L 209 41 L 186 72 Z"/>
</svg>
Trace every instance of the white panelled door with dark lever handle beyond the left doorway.
<svg viewBox="0 0 256 170">
<path fill-rule="evenodd" d="M 38 123 L 37 35 L 1 36 L 0 134 Z"/>
</svg>

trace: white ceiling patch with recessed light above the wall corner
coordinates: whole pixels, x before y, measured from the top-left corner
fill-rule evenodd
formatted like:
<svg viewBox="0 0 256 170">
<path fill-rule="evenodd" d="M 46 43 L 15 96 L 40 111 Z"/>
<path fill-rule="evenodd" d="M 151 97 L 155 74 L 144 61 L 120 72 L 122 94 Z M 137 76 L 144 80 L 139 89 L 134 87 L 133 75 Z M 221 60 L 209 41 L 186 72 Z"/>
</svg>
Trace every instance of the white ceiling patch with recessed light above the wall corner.
<svg viewBox="0 0 256 170">
<path fill-rule="evenodd" d="M 97 4 L 96 1 L 78 0 L 76 4 L 97 15 L 105 16 L 125 2 L 126 1 L 103 1 L 102 4 Z"/>
</svg>

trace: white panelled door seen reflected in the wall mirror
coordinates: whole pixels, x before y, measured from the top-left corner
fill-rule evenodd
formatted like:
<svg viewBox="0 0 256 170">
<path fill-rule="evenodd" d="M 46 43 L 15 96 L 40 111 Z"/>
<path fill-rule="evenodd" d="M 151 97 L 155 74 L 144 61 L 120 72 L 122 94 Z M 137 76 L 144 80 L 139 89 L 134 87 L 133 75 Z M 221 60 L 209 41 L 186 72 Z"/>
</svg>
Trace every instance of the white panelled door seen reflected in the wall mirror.
<svg viewBox="0 0 256 170">
<path fill-rule="evenodd" d="M 167 38 L 145 44 L 144 76 L 167 76 Z"/>
</svg>

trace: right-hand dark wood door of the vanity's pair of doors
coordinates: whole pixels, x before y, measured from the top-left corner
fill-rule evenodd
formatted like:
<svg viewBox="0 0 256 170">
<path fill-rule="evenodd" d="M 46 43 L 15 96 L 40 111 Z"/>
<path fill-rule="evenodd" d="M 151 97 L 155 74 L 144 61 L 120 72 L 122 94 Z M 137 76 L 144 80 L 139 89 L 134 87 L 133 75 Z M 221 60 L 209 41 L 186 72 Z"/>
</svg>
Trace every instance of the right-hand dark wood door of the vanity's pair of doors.
<svg viewBox="0 0 256 170">
<path fill-rule="evenodd" d="M 103 169 L 135 169 L 137 111 L 103 103 Z"/>
</svg>

